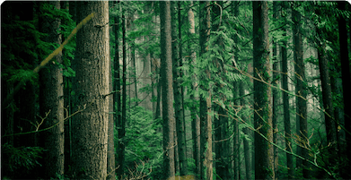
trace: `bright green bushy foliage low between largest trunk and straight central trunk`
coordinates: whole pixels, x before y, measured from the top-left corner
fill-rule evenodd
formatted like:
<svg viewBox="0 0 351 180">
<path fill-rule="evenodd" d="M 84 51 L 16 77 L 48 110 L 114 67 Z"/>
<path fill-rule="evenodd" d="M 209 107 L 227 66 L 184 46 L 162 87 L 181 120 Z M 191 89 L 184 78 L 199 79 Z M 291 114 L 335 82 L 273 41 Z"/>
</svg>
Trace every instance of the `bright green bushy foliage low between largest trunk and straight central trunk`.
<svg viewBox="0 0 351 180">
<path fill-rule="evenodd" d="M 132 101 L 138 100 L 131 99 Z M 160 132 L 162 125 L 154 120 L 153 112 L 145 110 L 144 107 L 127 109 L 129 109 L 125 137 L 127 168 L 137 172 L 144 169 L 146 174 L 152 169 L 151 177 L 162 174 L 162 132 Z M 118 131 L 115 131 L 115 138 L 115 141 L 118 141 Z"/>
</svg>

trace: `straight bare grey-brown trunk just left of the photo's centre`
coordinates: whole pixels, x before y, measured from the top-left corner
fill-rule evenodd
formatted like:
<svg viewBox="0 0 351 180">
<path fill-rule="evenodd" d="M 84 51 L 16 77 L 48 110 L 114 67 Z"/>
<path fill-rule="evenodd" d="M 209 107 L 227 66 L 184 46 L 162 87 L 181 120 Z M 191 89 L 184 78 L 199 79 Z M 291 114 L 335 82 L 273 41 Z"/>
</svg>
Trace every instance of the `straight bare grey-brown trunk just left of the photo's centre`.
<svg viewBox="0 0 351 180">
<path fill-rule="evenodd" d="M 171 62 L 171 2 L 160 1 L 163 179 L 174 176 L 174 110 Z"/>
</svg>

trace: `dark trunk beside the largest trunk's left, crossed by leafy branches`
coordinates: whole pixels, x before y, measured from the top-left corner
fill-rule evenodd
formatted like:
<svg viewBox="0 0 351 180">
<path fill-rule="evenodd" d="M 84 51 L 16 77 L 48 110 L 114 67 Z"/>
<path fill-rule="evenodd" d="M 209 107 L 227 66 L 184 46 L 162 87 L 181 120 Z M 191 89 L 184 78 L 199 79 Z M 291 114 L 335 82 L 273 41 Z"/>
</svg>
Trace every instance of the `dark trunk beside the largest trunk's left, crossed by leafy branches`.
<svg viewBox="0 0 351 180">
<path fill-rule="evenodd" d="M 46 4 L 60 9 L 58 0 L 42 2 L 41 8 L 44 8 L 43 5 Z M 44 9 L 41 9 L 41 11 L 45 12 Z M 48 34 L 44 40 L 49 43 L 61 44 L 61 36 L 57 33 L 61 21 L 55 17 L 53 19 L 44 15 L 39 17 L 41 17 L 39 21 L 40 31 Z M 56 56 L 55 61 L 58 64 L 62 63 L 61 56 L 62 54 Z M 45 141 L 45 149 L 47 150 L 44 160 L 45 177 L 62 176 L 64 174 L 64 83 L 62 68 L 59 68 L 57 64 L 48 64 L 39 72 L 39 78 L 40 116 L 43 118 L 48 115 L 45 127 L 53 126 L 53 128 L 42 134 L 42 141 Z"/>
</svg>

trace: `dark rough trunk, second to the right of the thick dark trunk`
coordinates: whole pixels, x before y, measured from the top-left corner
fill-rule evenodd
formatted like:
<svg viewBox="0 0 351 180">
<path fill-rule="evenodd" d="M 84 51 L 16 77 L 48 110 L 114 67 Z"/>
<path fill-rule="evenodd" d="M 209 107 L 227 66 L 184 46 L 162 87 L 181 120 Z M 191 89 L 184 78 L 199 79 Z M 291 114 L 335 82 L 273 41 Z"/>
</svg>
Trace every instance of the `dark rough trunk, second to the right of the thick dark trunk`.
<svg viewBox="0 0 351 180">
<path fill-rule="evenodd" d="M 301 138 L 300 149 L 297 153 L 303 158 L 307 158 L 308 150 L 303 147 L 303 142 L 307 141 L 307 101 L 306 101 L 306 77 L 305 67 L 303 63 L 303 39 L 301 33 L 301 14 L 293 10 L 293 21 L 294 21 L 294 69 L 295 69 L 295 81 L 296 81 L 296 122 L 298 124 L 299 131 L 296 132 Z M 296 160 L 296 167 L 303 168 L 303 177 L 308 177 L 307 161 Z"/>
</svg>

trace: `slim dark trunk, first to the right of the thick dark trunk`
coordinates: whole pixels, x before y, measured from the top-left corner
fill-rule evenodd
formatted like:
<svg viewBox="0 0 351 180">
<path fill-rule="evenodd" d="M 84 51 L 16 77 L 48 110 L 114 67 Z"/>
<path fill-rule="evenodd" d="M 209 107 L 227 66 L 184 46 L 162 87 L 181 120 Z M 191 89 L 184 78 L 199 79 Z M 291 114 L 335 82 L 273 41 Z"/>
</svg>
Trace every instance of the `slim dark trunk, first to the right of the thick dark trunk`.
<svg viewBox="0 0 351 180">
<path fill-rule="evenodd" d="M 285 2 L 281 4 L 282 8 L 285 7 Z M 284 17 L 282 17 L 284 18 Z M 286 28 L 282 27 L 284 31 L 283 36 L 286 36 Z M 283 90 L 288 91 L 288 68 L 287 68 L 287 50 L 286 50 L 287 42 L 284 40 L 281 46 L 281 58 L 282 58 L 282 88 Z M 283 109 L 284 109 L 284 129 L 285 129 L 285 149 L 289 152 L 293 152 L 293 144 L 292 144 L 292 132 L 291 132 L 291 123 L 290 123 L 290 110 L 289 110 L 289 94 L 286 91 L 282 91 L 283 97 Z M 293 155 L 291 153 L 286 152 L 286 167 L 288 179 L 294 179 L 294 164 L 293 164 Z"/>
</svg>

